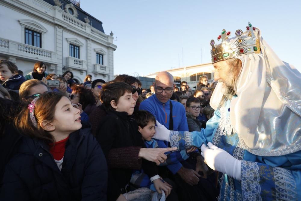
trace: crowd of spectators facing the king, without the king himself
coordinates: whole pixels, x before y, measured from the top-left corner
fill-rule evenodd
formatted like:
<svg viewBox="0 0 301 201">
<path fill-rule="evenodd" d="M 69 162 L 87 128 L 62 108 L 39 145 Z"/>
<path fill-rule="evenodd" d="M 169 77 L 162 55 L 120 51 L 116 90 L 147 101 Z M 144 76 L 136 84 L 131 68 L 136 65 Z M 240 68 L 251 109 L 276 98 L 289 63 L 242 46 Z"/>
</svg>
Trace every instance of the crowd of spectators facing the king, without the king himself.
<svg viewBox="0 0 301 201">
<path fill-rule="evenodd" d="M 165 115 L 147 108 L 155 97 L 170 101 L 181 117 L 172 129 L 200 131 L 214 112 L 209 85 L 191 90 L 182 82 L 185 90 L 177 91 L 166 72 L 165 89 L 158 79 L 142 89 L 129 75 L 105 82 L 88 74 L 76 84 L 71 71 L 46 69 L 36 62 L 23 77 L 11 61 L 0 60 L 1 199 L 147 200 L 162 191 L 167 200 L 218 196 L 216 173 L 207 175 L 195 147 L 175 151 L 152 138 Z M 50 80 L 59 85 L 49 86 Z"/>
</svg>

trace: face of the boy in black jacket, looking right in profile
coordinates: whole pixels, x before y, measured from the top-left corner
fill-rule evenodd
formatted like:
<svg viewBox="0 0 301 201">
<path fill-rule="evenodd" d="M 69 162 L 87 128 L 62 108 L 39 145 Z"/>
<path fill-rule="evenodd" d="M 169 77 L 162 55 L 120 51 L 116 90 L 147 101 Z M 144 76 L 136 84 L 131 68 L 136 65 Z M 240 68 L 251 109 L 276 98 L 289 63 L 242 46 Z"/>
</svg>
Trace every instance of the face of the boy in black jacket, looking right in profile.
<svg viewBox="0 0 301 201">
<path fill-rule="evenodd" d="M 128 115 L 132 115 L 134 112 L 134 108 L 136 105 L 136 101 L 133 99 L 133 94 L 126 92 L 121 96 L 116 105 L 116 111 L 118 112 L 127 112 Z"/>
</svg>

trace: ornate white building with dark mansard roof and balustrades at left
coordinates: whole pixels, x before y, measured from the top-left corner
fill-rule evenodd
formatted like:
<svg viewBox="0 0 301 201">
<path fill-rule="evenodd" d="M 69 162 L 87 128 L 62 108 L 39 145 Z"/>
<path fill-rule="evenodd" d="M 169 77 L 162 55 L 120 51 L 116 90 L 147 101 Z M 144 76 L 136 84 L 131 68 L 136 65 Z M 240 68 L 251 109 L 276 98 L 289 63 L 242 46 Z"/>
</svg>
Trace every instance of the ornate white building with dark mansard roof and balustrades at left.
<svg viewBox="0 0 301 201">
<path fill-rule="evenodd" d="M 113 79 L 113 34 L 106 35 L 102 22 L 67 0 L 1 0 L 0 59 L 8 59 L 23 71 L 33 71 L 37 61 L 47 73 L 72 71 L 82 83 Z"/>
</svg>

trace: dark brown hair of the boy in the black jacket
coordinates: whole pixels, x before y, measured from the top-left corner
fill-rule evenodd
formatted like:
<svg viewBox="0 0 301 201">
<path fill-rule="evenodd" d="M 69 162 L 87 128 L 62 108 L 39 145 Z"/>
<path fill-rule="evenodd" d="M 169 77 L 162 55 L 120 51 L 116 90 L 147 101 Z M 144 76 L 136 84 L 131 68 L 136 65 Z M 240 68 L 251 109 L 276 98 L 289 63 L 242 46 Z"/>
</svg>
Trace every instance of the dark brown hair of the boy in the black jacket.
<svg viewBox="0 0 301 201">
<path fill-rule="evenodd" d="M 111 101 L 114 100 L 117 105 L 119 98 L 126 92 L 132 94 L 132 87 L 129 84 L 121 81 L 107 82 L 102 86 L 100 92 L 101 103 L 108 111 L 115 111 L 111 106 Z"/>
</svg>

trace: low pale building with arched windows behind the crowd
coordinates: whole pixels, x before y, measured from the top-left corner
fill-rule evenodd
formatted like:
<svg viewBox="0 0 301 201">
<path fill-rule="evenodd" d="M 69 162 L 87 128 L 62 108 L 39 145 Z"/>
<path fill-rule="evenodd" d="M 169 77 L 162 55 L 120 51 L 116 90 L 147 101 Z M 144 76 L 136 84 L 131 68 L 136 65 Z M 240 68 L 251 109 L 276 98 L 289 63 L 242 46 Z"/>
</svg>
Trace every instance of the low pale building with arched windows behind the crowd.
<svg viewBox="0 0 301 201">
<path fill-rule="evenodd" d="M 212 63 L 199 64 L 194 66 L 187 66 L 184 68 L 173 68 L 165 70 L 172 74 L 177 86 L 180 86 L 182 81 L 186 81 L 190 88 L 197 86 L 200 76 L 206 75 L 208 77 L 208 83 L 214 81 L 214 68 Z M 159 72 L 149 74 L 144 77 L 156 78 Z"/>
</svg>

